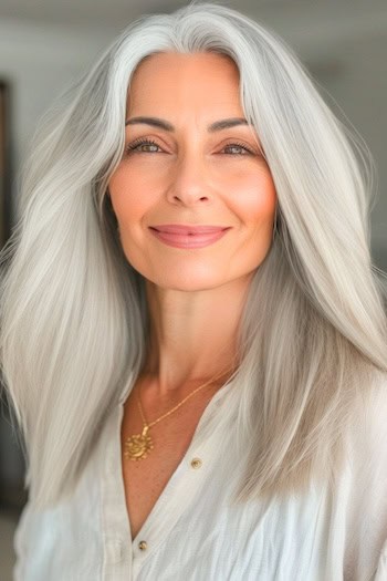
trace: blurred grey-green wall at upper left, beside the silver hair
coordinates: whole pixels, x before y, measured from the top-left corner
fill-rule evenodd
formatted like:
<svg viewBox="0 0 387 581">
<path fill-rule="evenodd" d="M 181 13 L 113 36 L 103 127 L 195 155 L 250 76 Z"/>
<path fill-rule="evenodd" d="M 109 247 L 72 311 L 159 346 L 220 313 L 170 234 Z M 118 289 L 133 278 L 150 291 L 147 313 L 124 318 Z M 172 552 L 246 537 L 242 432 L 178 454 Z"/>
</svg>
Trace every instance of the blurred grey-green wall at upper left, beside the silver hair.
<svg viewBox="0 0 387 581">
<path fill-rule="evenodd" d="M 24 159 L 39 117 L 55 95 L 95 61 L 113 37 L 96 27 L 0 20 L 0 77 L 11 85 L 14 172 Z"/>
</svg>

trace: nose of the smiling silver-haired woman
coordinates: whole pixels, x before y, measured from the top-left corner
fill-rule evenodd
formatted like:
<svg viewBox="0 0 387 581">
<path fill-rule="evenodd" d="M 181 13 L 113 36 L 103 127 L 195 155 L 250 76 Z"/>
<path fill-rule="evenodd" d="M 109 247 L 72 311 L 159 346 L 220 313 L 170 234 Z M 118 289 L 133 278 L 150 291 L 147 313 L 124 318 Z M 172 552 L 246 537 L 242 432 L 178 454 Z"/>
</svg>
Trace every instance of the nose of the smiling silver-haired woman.
<svg viewBox="0 0 387 581">
<path fill-rule="evenodd" d="M 171 204 L 191 206 L 211 198 L 211 178 L 202 154 L 186 153 L 171 170 L 167 198 Z"/>
</svg>

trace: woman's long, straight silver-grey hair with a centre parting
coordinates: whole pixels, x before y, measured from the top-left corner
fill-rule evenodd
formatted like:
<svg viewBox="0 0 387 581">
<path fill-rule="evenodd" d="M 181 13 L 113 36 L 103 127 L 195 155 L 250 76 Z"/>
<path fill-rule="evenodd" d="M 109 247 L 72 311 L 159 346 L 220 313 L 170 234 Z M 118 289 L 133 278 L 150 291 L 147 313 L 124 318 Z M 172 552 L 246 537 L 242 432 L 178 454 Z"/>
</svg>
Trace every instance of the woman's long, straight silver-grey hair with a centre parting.
<svg viewBox="0 0 387 581">
<path fill-rule="evenodd" d="M 367 146 L 266 27 L 207 2 L 147 14 L 42 118 L 1 252 L 1 372 L 38 507 L 74 490 L 107 414 L 145 361 L 144 280 L 124 256 L 106 190 L 124 149 L 132 75 L 167 51 L 234 61 L 278 195 L 275 236 L 241 319 L 238 390 L 202 433 L 237 414 L 236 499 L 334 477 L 352 403 L 387 373 Z"/>
</svg>

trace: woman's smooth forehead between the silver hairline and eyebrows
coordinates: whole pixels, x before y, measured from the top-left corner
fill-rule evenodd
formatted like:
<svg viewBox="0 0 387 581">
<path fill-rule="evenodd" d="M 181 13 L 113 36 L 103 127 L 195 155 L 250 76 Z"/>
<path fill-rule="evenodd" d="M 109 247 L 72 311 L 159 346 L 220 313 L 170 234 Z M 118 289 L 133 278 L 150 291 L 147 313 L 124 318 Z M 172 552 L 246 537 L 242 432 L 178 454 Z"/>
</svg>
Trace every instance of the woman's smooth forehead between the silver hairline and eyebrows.
<svg viewBox="0 0 387 581">
<path fill-rule="evenodd" d="M 135 70 L 128 89 L 128 110 L 158 105 L 239 105 L 239 70 L 219 53 L 151 54 Z"/>
</svg>

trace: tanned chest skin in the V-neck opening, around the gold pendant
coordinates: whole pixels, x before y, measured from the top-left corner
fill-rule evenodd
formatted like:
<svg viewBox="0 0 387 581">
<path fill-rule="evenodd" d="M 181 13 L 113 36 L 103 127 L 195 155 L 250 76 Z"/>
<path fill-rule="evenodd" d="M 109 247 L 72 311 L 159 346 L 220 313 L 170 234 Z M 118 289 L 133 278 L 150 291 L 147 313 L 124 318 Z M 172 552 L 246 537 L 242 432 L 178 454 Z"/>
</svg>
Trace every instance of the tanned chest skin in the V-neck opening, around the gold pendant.
<svg viewBox="0 0 387 581">
<path fill-rule="evenodd" d="M 125 456 L 125 442 L 129 436 L 142 434 L 144 423 L 134 398 L 129 398 L 125 406 L 121 426 L 121 459 L 132 539 L 136 538 L 186 455 L 208 398 L 190 404 L 187 402 L 185 408 L 149 428 L 154 447 L 146 458 L 138 460 Z M 151 421 L 153 417 L 149 417 L 148 422 Z"/>
</svg>

